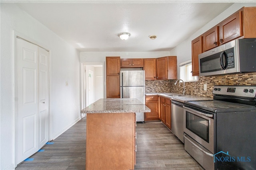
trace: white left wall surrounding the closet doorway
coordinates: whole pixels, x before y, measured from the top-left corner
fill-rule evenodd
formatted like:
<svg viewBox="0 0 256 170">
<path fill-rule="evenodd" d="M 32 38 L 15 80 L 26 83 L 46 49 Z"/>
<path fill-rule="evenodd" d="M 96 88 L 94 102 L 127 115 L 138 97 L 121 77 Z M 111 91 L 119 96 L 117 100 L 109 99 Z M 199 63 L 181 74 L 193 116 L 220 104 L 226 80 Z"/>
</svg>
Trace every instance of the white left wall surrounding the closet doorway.
<svg viewBox="0 0 256 170">
<path fill-rule="evenodd" d="M 0 169 L 5 170 L 14 169 L 15 160 L 13 30 L 50 50 L 52 138 L 80 119 L 80 62 L 76 49 L 16 5 L 1 3 L 0 11 Z"/>
</svg>

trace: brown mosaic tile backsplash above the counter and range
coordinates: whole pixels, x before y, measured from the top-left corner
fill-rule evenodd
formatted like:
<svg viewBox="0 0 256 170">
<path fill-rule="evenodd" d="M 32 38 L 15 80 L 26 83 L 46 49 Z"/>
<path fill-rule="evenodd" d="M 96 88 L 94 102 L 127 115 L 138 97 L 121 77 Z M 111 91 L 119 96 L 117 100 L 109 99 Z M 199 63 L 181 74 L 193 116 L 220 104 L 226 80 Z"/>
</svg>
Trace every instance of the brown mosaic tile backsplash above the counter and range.
<svg viewBox="0 0 256 170">
<path fill-rule="evenodd" d="M 182 94 L 183 83 L 176 80 L 145 80 L 145 92 L 173 92 Z M 204 84 L 207 90 L 204 91 Z M 186 82 L 186 94 L 193 96 L 212 97 L 212 90 L 215 85 L 240 85 L 256 86 L 256 72 L 242 74 L 225 74 L 217 76 L 199 76 L 197 82 Z"/>
</svg>

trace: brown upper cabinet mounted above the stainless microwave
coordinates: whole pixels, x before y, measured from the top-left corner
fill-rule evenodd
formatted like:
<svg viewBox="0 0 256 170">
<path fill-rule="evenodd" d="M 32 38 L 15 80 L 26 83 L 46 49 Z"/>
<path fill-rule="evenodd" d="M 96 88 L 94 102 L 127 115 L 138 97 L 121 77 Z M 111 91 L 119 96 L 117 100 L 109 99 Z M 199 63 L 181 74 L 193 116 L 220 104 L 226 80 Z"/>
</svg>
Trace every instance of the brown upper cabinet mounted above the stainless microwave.
<svg viewBox="0 0 256 170">
<path fill-rule="evenodd" d="M 203 51 L 208 51 L 238 37 L 256 37 L 256 7 L 243 7 L 203 36 Z"/>
</svg>

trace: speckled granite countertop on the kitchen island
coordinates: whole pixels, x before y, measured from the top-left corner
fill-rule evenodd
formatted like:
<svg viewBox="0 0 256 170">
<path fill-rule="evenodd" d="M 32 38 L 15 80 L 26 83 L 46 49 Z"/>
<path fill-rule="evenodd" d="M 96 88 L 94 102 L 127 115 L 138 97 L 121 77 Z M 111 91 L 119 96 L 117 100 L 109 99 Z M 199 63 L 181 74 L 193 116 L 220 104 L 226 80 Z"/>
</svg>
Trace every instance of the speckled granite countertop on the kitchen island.
<svg viewBox="0 0 256 170">
<path fill-rule="evenodd" d="M 139 113 L 150 112 L 150 108 L 133 98 L 99 99 L 81 110 L 81 113 Z"/>
</svg>

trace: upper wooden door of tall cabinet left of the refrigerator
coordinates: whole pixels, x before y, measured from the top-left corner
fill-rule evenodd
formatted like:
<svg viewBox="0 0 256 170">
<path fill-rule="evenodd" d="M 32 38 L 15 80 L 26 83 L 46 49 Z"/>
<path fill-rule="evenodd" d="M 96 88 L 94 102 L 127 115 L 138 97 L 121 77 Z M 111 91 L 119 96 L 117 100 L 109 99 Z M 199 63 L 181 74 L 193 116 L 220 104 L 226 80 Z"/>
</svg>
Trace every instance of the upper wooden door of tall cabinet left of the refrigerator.
<svg viewBox="0 0 256 170">
<path fill-rule="evenodd" d="M 120 74 L 120 57 L 106 57 L 106 75 Z"/>
</svg>

